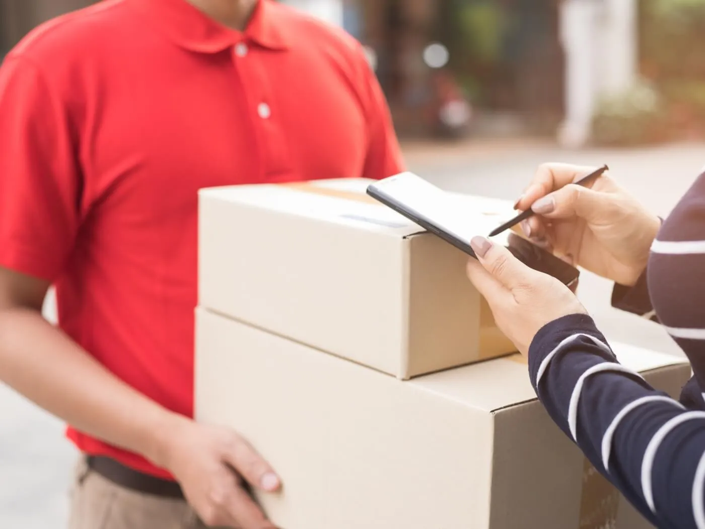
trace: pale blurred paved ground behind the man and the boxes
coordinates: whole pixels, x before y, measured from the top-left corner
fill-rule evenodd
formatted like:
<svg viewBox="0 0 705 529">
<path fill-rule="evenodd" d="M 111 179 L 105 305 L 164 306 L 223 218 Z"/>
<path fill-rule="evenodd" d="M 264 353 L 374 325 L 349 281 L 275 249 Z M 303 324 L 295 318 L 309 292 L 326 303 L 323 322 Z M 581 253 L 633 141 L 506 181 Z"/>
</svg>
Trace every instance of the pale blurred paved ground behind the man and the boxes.
<svg viewBox="0 0 705 529">
<path fill-rule="evenodd" d="M 525 142 L 407 147 L 410 168 L 439 186 L 514 198 L 541 162 L 607 163 L 620 181 L 667 214 L 705 164 L 704 145 L 646 151 L 565 152 Z M 678 354 L 658 327 L 609 308 L 610 285 L 585 274 L 580 296 L 611 339 Z M 49 310 L 51 314 L 51 310 Z M 75 454 L 61 422 L 0 386 L 0 528 L 61 529 Z"/>
</svg>

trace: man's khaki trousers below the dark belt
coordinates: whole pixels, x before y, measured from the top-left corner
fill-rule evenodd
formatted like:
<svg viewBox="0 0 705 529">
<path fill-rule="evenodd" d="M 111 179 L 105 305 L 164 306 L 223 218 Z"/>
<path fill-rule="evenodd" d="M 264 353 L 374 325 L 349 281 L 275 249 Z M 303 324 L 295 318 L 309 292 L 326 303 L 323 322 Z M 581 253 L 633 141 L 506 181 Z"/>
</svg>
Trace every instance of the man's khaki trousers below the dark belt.
<svg viewBox="0 0 705 529">
<path fill-rule="evenodd" d="M 81 458 L 71 490 L 68 529 L 205 529 L 183 500 L 125 489 Z"/>
</svg>

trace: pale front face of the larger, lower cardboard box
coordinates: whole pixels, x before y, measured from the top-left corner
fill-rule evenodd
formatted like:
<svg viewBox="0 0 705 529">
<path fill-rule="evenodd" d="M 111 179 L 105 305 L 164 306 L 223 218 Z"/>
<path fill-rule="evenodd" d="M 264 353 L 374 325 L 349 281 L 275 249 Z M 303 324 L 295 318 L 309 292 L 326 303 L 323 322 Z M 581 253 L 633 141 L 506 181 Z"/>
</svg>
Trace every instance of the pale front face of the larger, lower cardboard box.
<svg viewBox="0 0 705 529">
<path fill-rule="evenodd" d="M 198 418 L 236 427 L 281 473 L 283 493 L 259 497 L 279 527 L 486 521 L 489 488 L 477 476 L 491 467 L 489 415 L 223 317 L 197 317 Z M 475 450 L 458 460 L 467 443 Z M 460 504 L 461 525 L 448 525 Z"/>
</svg>

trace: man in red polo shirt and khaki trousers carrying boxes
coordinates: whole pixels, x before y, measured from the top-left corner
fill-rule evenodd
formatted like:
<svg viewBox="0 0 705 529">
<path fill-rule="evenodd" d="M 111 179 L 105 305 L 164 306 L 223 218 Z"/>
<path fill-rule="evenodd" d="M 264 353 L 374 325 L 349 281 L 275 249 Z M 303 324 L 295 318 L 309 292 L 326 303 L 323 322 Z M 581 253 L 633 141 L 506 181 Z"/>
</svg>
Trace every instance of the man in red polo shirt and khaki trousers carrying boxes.
<svg viewBox="0 0 705 529">
<path fill-rule="evenodd" d="M 191 419 L 197 190 L 401 169 L 360 44 L 271 0 L 106 0 L 11 51 L 0 378 L 85 454 L 71 529 L 273 527 L 275 470 Z"/>
</svg>

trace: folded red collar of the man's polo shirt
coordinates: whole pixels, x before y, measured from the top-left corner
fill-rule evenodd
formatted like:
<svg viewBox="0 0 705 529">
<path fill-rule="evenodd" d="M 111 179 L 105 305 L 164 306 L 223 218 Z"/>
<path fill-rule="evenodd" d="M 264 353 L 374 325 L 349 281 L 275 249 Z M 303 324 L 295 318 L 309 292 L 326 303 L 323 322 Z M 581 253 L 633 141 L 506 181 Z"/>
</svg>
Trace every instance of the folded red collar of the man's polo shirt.
<svg viewBox="0 0 705 529">
<path fill-rule="evenodd" d="M 216 53 L 243 40 L 273 50 L 286 50 L 290 42 L 286 23 L 274 0 L 258 0 L 243 32 L 226 28 L 187 0 L 131 0 L 159 24 L 180 47 L 200 53 Z"/>
</svg>

